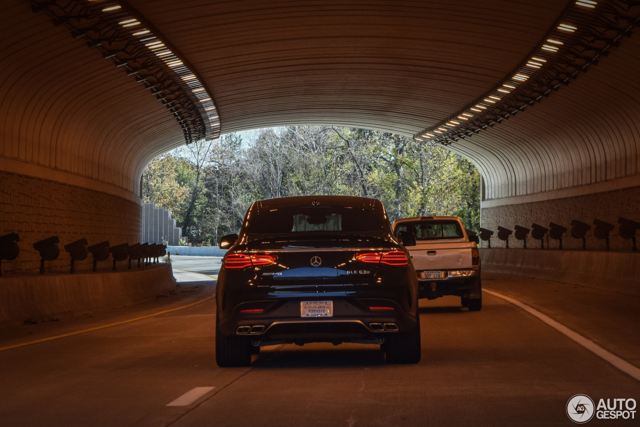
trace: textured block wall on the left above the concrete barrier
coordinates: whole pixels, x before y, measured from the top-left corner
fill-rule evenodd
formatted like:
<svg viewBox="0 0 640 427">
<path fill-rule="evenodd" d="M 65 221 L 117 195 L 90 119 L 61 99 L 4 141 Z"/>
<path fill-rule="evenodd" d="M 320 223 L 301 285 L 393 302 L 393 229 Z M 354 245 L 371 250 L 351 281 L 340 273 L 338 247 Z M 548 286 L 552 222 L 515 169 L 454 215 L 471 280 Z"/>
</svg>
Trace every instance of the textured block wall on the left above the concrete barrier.
<svg viewBox="0 0 640 427">
<path fill-rule="evenodd" d="M 33 243 L 56 235 L 58 260 L 45 262 L 47 272 L 68 272 L 64 245 L 85 238 L 89 245 L 109 240 L 111 246 L 141 240 L 141 205 L 104 192 L 41 178 L 0 171 L 0 235 L 20 235 L 20 255 L 3 260 L 4 276 L 37 273 L 40 255 Z M 91 254 L 76 262 L 76 271 L 92 269 Z M 111 263 L 109 261 L 102 264 Z"/>
</svg>

